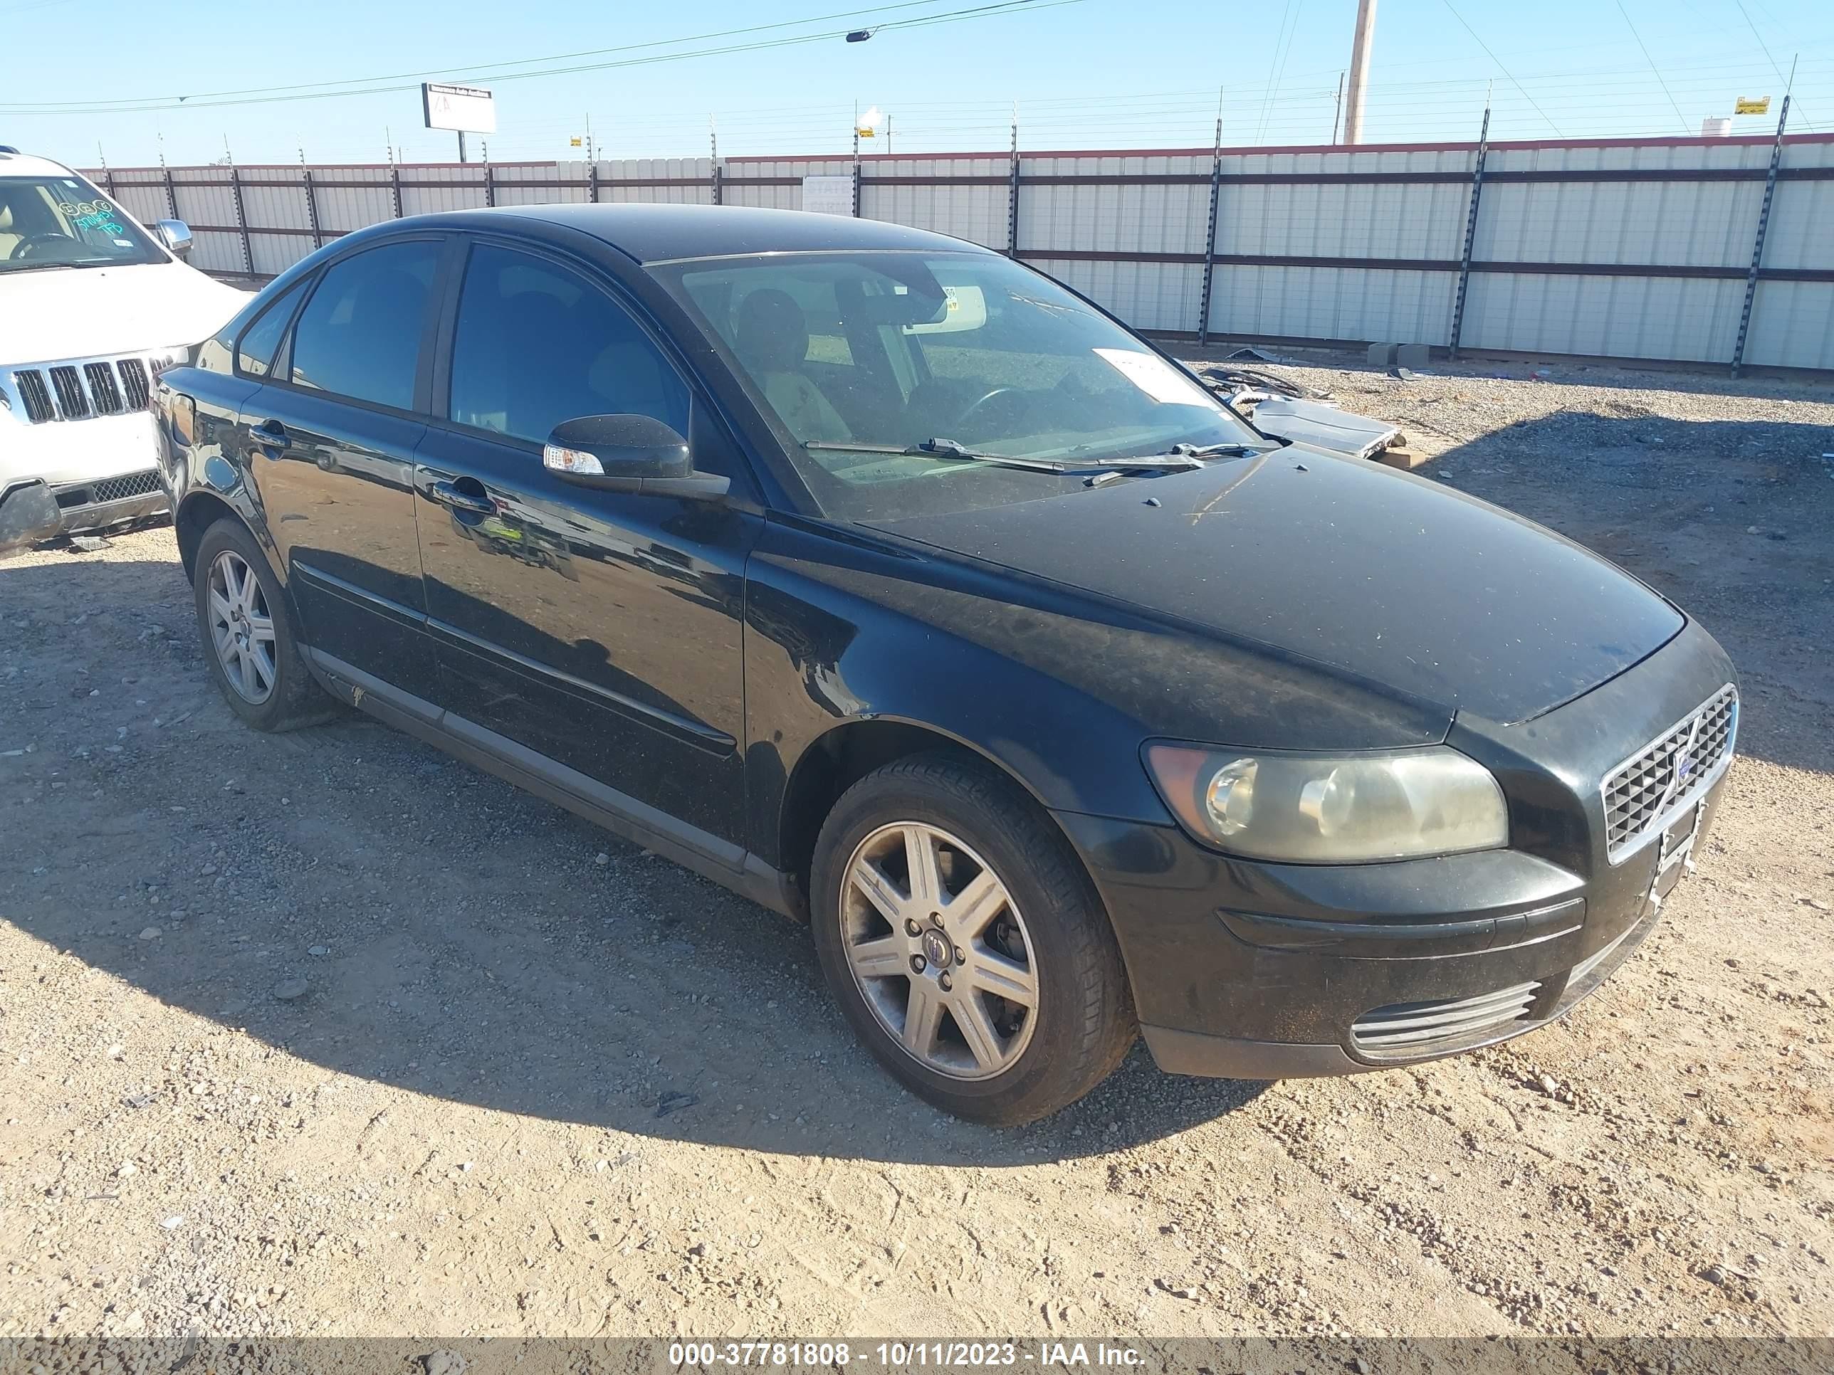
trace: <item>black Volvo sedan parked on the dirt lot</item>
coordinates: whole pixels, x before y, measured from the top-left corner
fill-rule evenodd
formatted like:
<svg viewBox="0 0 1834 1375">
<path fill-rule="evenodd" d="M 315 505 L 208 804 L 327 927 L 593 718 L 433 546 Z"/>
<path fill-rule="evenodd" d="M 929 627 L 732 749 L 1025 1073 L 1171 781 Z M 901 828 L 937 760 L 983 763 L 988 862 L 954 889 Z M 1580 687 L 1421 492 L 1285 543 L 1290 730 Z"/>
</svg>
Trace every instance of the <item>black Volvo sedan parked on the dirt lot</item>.
<svg viewBox="0 0 1834 1375">
<path fill-rule="evenodd" d="M 400 220 L 158 409 L 249 726 L 359 708 L 807 918 L 871 1052 L 985 1122 L 1135 1032 L 1280 1078 L 1541 1027 L 1733 757 L 1651 588 L 899 226 Z"/>
</svg>

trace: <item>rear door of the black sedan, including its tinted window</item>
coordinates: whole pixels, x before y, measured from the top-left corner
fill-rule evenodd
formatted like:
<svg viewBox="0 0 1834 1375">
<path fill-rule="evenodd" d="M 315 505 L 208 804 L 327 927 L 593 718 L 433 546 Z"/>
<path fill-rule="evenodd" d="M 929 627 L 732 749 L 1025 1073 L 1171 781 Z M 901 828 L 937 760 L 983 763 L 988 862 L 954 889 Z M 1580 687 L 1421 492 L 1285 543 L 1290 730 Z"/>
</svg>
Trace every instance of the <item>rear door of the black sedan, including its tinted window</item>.
<svg viewBox="0 0 1834 1375">
<path fill-rule="evenodd" d="M 242 403 L 249 475 L 303 638 L 429 700 L 413 477 L 442 249 L 440 236 L 398 238 L 334 260 L 271 361 L 238 359 L 262 381 Z"/>
</svg>

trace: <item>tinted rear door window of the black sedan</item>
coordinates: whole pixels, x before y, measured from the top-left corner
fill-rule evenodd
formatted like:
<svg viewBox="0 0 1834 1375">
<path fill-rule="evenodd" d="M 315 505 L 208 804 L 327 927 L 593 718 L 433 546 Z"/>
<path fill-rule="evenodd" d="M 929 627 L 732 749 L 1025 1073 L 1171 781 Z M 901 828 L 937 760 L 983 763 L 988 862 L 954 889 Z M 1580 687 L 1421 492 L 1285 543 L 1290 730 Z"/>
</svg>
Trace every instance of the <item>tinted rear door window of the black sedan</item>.
<svg viewBox="0 0 1834 1375">
<path fill-rule="evenodd" d="M 414 407 L 440 244 L 385 244 L 334 264 L 293 328 L 293 385 Z"/>
</svg>

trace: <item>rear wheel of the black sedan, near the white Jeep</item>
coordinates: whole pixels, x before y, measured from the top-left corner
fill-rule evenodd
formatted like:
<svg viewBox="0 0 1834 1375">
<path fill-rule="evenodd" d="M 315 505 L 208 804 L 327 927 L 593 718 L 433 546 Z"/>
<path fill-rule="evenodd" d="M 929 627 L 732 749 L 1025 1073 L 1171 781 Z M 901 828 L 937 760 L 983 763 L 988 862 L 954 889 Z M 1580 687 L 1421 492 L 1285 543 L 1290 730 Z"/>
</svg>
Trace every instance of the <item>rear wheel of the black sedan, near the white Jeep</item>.
<svg viewBox="0 0 1834 1375">
<path fill-rule="evenodd" d="M 204 532 L 194 583 L 204 658 L 242 720 L 281 732 L 336 715 L 299 658 L 286 598 L 246 526 L 224 519 Z"/>
</svg>

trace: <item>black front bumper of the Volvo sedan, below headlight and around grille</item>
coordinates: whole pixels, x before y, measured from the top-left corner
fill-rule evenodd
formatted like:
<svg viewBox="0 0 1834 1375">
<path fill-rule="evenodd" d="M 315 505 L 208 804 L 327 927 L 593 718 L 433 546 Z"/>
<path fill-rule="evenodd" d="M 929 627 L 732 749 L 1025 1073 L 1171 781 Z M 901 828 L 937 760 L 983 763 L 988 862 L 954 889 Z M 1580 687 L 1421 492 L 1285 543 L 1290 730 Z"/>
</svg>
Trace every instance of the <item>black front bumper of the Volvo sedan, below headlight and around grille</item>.
<svg viewBox="0 0 1834 1375">
<path fill-rule="evenodd" d="M 1465 717 L 1504 783 L 1511 849 L 1363 865 L 1258 864 L 1176 825 L 1060 812 L 1095 878 L 1161 1069 L 1227 1078 L 1420 1063 L 1544 1027 L 1621 964 L 1691 867 L 1724 774 L 1614 864 L 1599 779 L 1731 680 L 1695 625 L 1544 717 Z"/>
</svg>

